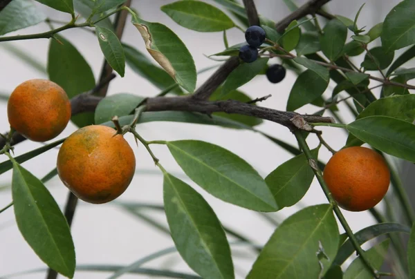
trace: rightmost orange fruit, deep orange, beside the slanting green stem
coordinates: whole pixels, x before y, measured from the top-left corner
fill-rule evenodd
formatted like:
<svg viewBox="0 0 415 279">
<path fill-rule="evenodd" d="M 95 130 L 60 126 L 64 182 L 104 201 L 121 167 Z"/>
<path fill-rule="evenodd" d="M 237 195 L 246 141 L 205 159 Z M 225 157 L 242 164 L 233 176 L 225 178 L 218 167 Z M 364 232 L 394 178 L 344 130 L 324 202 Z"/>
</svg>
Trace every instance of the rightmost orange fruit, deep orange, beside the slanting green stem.
<svg viewBox="0 0 415 279">
<path fill-rule="evenodd" d="M 349 211 L 374 207 L 385 196 L 390 182 L 385 159 L 361 146 L 335 153 L 324 168 L 323 177 L 333 198 Z"/>
</svg>

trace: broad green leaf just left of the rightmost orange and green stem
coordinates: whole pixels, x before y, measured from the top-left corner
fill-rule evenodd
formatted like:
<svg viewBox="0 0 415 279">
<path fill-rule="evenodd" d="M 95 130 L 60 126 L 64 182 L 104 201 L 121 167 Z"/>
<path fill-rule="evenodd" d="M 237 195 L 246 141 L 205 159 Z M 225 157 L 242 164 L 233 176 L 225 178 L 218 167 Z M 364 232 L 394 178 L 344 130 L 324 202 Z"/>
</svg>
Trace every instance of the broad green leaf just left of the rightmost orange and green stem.
<svg viewBox="0 0 415 279">
<path fill-rule="evenodd" d="M 317 157 L 318 151 L 315 149 L 312 152 Z M 265 177 L 265 182 L 282 209 L 299 202 L 310 188 L 313 178 L 314 173 L 306 156 L 300 154 L 279 165 Z"/>
</svg>

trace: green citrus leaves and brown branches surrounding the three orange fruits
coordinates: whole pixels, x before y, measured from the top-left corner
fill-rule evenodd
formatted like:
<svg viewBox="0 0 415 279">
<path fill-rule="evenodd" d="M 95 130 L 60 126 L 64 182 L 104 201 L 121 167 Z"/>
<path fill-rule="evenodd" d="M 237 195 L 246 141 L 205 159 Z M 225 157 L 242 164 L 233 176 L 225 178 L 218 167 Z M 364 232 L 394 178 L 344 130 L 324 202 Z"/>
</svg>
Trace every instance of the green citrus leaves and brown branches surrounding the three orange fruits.
<svg viewBox="0 0 415 279">
<path fill-rule="evenodd" d="M 168 228 L 161 226 L 161 229 L 172 236 L 175 248 L 150 255 L 136 265 L 98 267 L 99 270 L 115 271 L 111 278 L 128 272 L 199 278 L 174 271 L 140 269 L 140 264 L 148 260 L 178 251 L 194 273 L 202 278 L 232 279 L 235 278 L 233 260 L 236 255 L 232 255 L 231 247 L 235 243 L 228 237 L 233 235 L 257 251 L 247 278 L 379 278 L 385 275 L 379 270 L 385 258 L 392 262 L 398 278 L 414 278 L 415 229 L 412 224 L 415 215 L 400 177 L 389 164 L 392 195 L 399 200 L 404 220 L 398 223 L 390 212 L 384 215 L 371 209 L 378 224 L 353 233 L 322 178 L 324 163 L 318 160 L 319 151 L 321 148 L 335 151 L 330 143 L 324 142 L 318 126 L 347 131 L 349 136 L 344 147 L 368 144 L 382 155 L 415 162 L 415 98 L 411 91 L 415 87 L 407 83 L 415 78 L 415 68 L 405 65 L 415 57 L 415 1 L 400 1 L 375 26 L 360 26 L 359 16 L 365 10 L 363 3 L 359 9 L 356 8 L 356 17 L 349 19 L 320 10 L 327 1 L 311 0 L 305 6 L 297 7 L 293 1 L 284 0 L 293 14 L 277 23 L 258 15 L 252 0 L 243 3 L 184 0 L 163 4 L 160 10 L 183 28 L 201 32 L 200 36 L 204 32 L 215 32 L 215 35 L 223 37 L 225 48 L 211 53 L 208 58 L 227 60 L 200 88 L 196 88 L 196 81 L 204 70 L 196 70 L 192 53 L 174 32 L 176 26 L 165 26 L 158 23 L 157 18 L 139 15 L 129 8 L 129 1 L 37 0 L 63 12 L 66 17 L 71 16 L 70 21 L 58 28 L 37 10 L 37 4 L 32 0 L 6 2 L 10 3 L 0 6 L 0 44 L 3 41 L 48 38 L 49 47 L 45 50 L 48 52 L 48 78 L 62 86 L 72 99 L 72 122 L 78 127 L 100 124 L 115 127 L 118 133 L 133 133 L 145 145 L 163 174 L 163 197 L 160 200 L 163 199 L 164 204 L 154 209 L 165 211 Z M 124 16 L 120 17 L 122 12 Z M 126 16 L 127 21 L 131 21 L 127 24 L 136 29 L 136 36 L 142 38 L 140 44 L 145 46 L 147 53 L 120 40 L 119 24 Z M 53 23 L 51 30 L 39 34 L 8 35 L 45 20 Z M 246 46 L 252 38 L 244 39 L 243 33 L 239 44 L 229 46 L 227 30 L 238 28 L 245 32 L 252 25 L 260 26 L 256 30 L 264 32 L 260 34 L 264 38 L 258 49 L 257 46 Z M 132 70 L 161 92 L 149 98 L 128 93 L 104 97 L 106 91 L 102 88 L 111 79 L 95 80 L 91 65 L 82 53 L 59 33 L 69 28 L 89 28 L 95 33 L 107 71 L 109 69 L 111 73 L 114 70 L 124 77 L 126 71 Z M 396 52 L 402 48 L 406 50 Z M 358 55 L 361 56 L 355 58 Z M 30 63 L 30 59 L 22 57 Z M 281 67 L 275 68 L 280 71 L 278 74 L 268 72 L 268 68 L 277 63 L 283 64 L 284 74 Z M 285 69 L 297 75 L 291 85 L 287 111 L 263 108 L 259 102 L 267 96 L 252 99 L 250 94 L 239 90 L 264 74 L 270 81 L 280 82 L 285 77 Z M 105 71 L 102 74 L 108 74 Z M 380 95 L 374 94 L 376 88 L 380 89 Z M 84 94 L 91 93 L 91 90 L 92 95 Z M 323 96 L 323 93 L 328 90 L 331 95 L 327 98 L 328 95 Z M 347 104 L 349 112 L 355 115 L 353 122 L 342 123 L 337 117 L 337 122 L 333 123 L 326 117 L 337 116 L 336 105 L 340 103 Z M 306 106 L 308 104 L 313 106 Z M 295 113 L 304 106 L 306 115 Z M 300 147 L 257 133 L 257 137 L 265 136 L 293 154 L 290 160 L 278 162 L 275 170 L 266 177 L 259 175 L 249 158 L 242 159 L 221 146 L 191 139 L 147 142 L 135 131 L 136 125 L 158 121 L 257 131 L 256 126 L 264 120 L 289 128 Z M 306 139 L 316 135 L 320 144 L 310 150 Z M 57 175 L 56 169 L 39 180 L 20 165 L 59 146 L 64 140 L 13 157 L 9 152 L 11 144 L 24 139 L 16 137 L 14 142 L 10 142 L 11 134 L 6 137 L 3 137 L 0 153 L 8 155 L 8 160 L 0 164 L 0 173 L 12 170 L 12 204 L 0 212 L 13 205 L 21 234 L 48 268 L 68 278 L 73 278 L 76 270 L 97 269 L 75 263 L 71 221 L 68 219 L 71 216 L 62 213 L 44 186 Z M 257 247 L 221 223 L 196 189 L 164 169 L 163 158 L 151 152 L 151 144 L 167 146 L 192 182 L 210 195 L 235 206 L 262 213 L 293 206 L 306 194 L 313 178 L 320 182 L 328 200 L 286 218 L 277 224 L 269 240 Z M 388 196 L 385 199 L 390 202 Z M 122 208 L 139 216 L 134 206 L 122 205 Z M 336 222 L 335 216 L 340 222 Z M 160 224 L 153 224 L 160 227 Z M 410 235 L 407 250 L 396 233 Z M 387 235 L 387 239 L 371 245 L 367 251 L 362 250 L 361 244 L 377 240 L 380 235 Z M 386 252 L 388 247 L 391 251 L 389 256 Z M 344 264 L 353 253 L 358 253 L 358 257 L 351 264 Z M 21 266 L 23 269 L 24 263 Z"/>
</svg>

